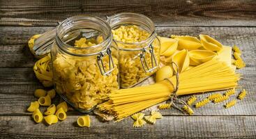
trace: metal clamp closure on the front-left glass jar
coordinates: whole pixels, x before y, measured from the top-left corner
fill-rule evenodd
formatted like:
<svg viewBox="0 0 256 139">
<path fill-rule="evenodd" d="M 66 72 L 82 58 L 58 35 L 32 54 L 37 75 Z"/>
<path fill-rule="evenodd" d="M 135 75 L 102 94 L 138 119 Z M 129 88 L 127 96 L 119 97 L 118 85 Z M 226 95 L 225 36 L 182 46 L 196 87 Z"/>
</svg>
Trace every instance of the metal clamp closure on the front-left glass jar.
<svg viewBox="0 0 256 139">
<path fill-rule="evenodd" d="M 107 48 L 107 51 L 102 51 L 100 52 L 100 54 L 97 56 L 97 63 L 98 63 L 98 67 L 100 69 L 100 73 L 103 75 L 103 76 L 109 76 L 110 73 L 114 70 L 114 62 L 113 62 L 113 58 L 112 58 L 112 55 L 111 55 L 112 51 L 110 48 Z M 105 56 L 108 56 L 108 60 L 109 60 L 109 70 L 106 71 L 105 70 L 105 67 L 104 67 L 104 63 L 103 63 L 103 58 Z"/>
</svg>

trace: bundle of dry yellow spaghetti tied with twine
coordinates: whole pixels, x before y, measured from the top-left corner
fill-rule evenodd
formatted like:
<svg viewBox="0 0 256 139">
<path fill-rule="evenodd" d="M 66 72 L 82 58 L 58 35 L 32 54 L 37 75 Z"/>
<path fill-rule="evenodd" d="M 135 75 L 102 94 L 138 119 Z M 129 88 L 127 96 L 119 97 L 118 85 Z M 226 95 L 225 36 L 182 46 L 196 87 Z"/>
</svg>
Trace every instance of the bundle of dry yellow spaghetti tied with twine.
<svg viewBox="0 0 256 139">
<path fill-rule="evenodd" d="M 210 60 L 179 74 L 179 90 L 176 95 L 236 88 L 239 74 L 225 63 Z M 176 88 L 176 77 L 136 88 L 113 90 L 109 100 L 98 105 L 100 111 L 114 115 L 116 121 L 133 115 L 162 101 L 170 99 Z"/>
</svg>

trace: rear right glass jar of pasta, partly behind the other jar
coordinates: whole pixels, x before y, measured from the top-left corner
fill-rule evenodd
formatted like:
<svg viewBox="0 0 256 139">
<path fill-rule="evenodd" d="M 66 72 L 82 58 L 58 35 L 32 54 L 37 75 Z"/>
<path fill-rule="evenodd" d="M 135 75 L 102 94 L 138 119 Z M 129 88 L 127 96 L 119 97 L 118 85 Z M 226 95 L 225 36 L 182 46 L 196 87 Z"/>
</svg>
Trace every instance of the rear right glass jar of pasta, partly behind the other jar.
<svg viewBox="0 0 256 139">
<path fill-rule="evenodd" d="M 107 19 L 112 28 L 114 40 L 119 47 L 119 74 L 121 88 L 130 88 L 144 81 L 158 69 L 160 61 L 160 40 L 151 19 L 137 13 L 119 13 Z M 119 28 L 132 26 L 130 33 L 118 31 Z M 133 35 L 133 28 L 142 31 L 138 42 L 122 40 Z M 115 38 L 120 38 L 116 40 Z M 137 36 L 135 34 L 135 36 Z M 145 38 L 146 37 L 146 38 Z M 137 38 L 137 37 L 136 37 Z M 143 39 L 144 38 L 144 39 Z"/>
</svg>

